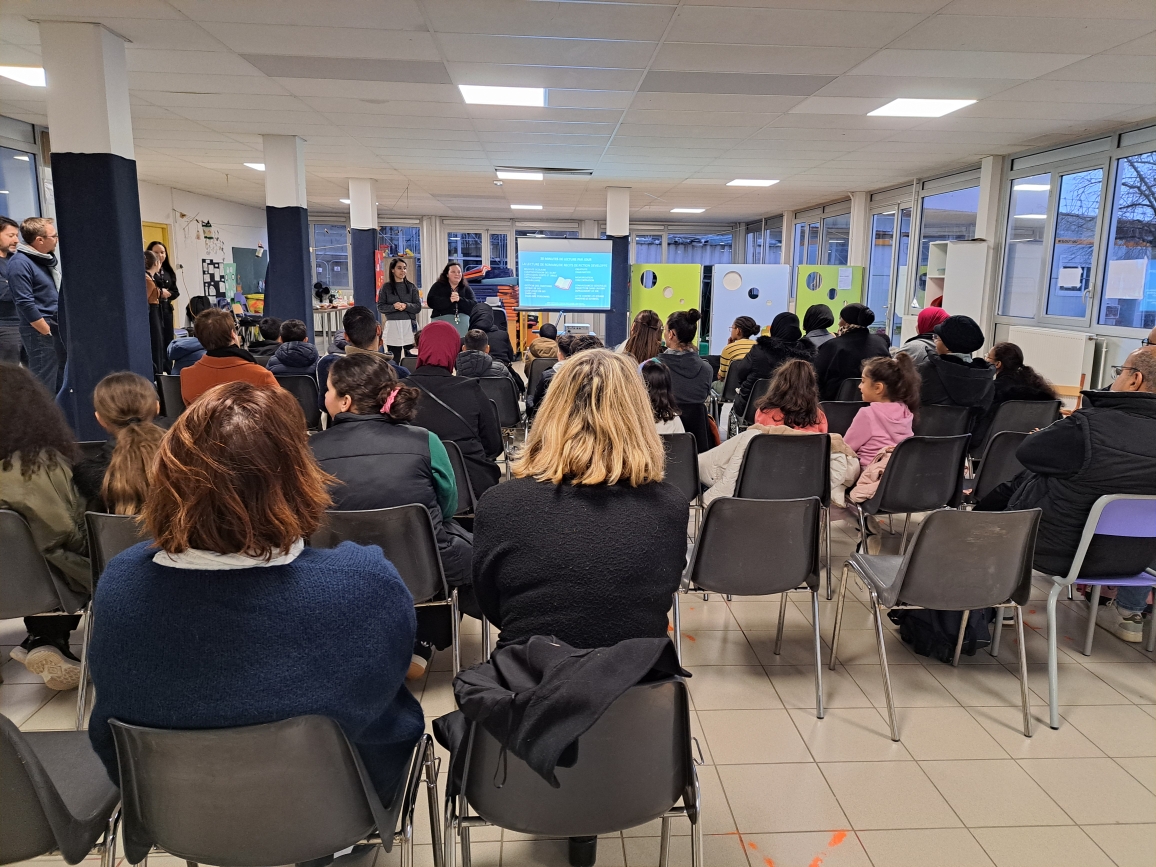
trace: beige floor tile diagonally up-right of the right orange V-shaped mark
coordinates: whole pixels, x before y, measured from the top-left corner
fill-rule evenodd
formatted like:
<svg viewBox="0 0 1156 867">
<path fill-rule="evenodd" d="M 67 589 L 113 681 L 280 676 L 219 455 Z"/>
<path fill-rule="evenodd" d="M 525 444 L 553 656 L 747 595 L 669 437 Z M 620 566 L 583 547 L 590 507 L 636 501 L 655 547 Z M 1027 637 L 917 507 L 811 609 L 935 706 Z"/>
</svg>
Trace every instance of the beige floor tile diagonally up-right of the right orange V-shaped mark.
<svg viewBox="0 0 1156 867">
<path fill-rule="evenodd" d="M 857 831 L 959 825 L 914 762 L 838 762 L 820 768 Z"/>
</svg>

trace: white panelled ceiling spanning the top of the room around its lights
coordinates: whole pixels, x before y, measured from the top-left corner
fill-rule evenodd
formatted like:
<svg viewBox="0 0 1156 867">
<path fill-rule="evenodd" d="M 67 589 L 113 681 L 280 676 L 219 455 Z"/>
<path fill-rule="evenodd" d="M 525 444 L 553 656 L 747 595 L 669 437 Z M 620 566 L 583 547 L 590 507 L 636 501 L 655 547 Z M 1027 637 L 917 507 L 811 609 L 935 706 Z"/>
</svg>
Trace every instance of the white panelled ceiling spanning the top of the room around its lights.
<svg viewBox="0 0 1156 867">
<path fill-rule="evenodd" d="M 30 18 L 131 40 L 142 180 L 260 206 L 243 163 L 296 134 L 329 213 L 372 177 L 383 214 L 593 220 L 621 185 L 635 220 L 738 221 L 1156 117 L 1153 0 L 2 0 L 0 64 L 39 65 Z M 45 124 L 44 94 L 0 79 L 0 111 Z M 867 117 L 899 96 L 979 102 Z M 593 176 L 497 187 L 496 165 Z"/>
</svg>

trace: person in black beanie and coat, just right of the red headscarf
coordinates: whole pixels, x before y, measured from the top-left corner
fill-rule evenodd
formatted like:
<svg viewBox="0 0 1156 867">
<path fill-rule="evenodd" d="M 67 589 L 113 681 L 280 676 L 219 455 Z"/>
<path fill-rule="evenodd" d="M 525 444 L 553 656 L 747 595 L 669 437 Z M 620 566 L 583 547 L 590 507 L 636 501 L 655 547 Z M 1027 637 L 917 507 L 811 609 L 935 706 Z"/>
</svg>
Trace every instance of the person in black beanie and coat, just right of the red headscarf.
<svg viewBox="0 0 1156 867">
<path fill-rule="evenodd" d="M 995 368 L 972 353 L 984 344 L 984 332 L 969 316 L 949 316 L 932 328 L 935 353 L 917 365 L 922 378 L 922 406 L 969 407 L 973 417 L 987 412 L 995 394 Z"/>
</svg>

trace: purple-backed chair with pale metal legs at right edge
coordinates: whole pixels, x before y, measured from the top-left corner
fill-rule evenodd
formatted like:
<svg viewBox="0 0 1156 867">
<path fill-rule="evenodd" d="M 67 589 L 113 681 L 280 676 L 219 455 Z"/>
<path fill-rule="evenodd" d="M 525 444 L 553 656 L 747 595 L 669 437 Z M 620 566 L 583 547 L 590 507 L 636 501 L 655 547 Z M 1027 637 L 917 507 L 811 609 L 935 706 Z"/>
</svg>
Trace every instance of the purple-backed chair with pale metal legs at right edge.
<svg viewBox="0 0 1156 867">
<path fill-rule="evenodd" d="M 1047 594 L 1047 702 L 1052 728 L 1060 727 L 1059 665 L 1055 650 L 1055 602 L 1065 587 L 1089 584 L 1094 587 L 1088 609 L 1088 630 L 1083 654 L 1091 655 L 1096 631 L 1099 588 L 1156 587 L 1156 497 L 1118 494 L 1101 497 L 1091 507 L 1080 536 L 1080 547 L 1067 576 L 1052 576 Z M 1156 629 L 1149 625 L 1146 649 L 1156 646 Z"/>
</svg>

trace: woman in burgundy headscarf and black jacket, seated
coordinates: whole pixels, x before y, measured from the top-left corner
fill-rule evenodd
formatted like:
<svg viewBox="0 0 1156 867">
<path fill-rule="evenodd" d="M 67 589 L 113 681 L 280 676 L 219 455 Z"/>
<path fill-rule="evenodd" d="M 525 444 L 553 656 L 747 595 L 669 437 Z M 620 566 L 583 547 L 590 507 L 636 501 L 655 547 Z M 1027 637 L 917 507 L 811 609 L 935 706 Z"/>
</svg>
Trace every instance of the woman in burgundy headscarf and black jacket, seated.
<svg viewBox="0 0 1156 867">
<path fill-rule="evenodd" d="M 458 444 L 474 494 L 498 483 L 502 476 L 489 455 L 502 453 L 502 428 L 489 399 L 476 379 L 453 376 L 461 349 L 458 331 L 449 323 L 430 323 L 422 329 L 417 369 L 406 385 L 421 390 L 412 424 Z"/>
</svg>

